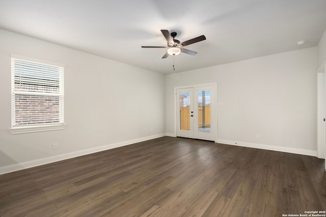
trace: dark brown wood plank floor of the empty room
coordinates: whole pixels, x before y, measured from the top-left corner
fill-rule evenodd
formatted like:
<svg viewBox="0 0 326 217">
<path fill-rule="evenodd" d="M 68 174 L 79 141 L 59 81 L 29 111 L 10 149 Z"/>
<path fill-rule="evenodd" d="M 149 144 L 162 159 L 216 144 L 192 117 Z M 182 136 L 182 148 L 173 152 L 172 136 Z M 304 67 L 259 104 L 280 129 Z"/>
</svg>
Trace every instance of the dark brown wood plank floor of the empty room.
<svg viewBox="0 0 326 217">
<path fill-rule="evenodd" d="M 282 216 L 326 210 L 324 161 L 162 137 L 0 176 L 1 216 Z"/>
</svg>

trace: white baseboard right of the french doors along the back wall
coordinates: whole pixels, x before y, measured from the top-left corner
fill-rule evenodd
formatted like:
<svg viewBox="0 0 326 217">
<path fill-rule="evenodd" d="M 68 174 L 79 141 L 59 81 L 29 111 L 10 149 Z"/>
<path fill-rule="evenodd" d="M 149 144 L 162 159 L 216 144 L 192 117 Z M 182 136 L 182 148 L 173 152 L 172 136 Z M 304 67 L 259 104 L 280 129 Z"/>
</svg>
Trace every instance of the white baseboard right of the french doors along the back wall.
<svg viewBox="0 0 326 217">
<path fill-rule="evenodd" d="M 216 142 L 221 144 L 227 144 L 227 145 L 237 145 L 237 146 L 249 147 L 249 148 L 259 148 L 259 149 L 272 150 L 272 151 L 282 151 L 288 153 L 303 154 L 303 155 L 308 155 L 313 157 L 317 156 L 317 151 L 300 149 L 300 148 L 288 148 L 288 147 L 281 147 L 281 146 L 274 146 L 274 145 L 264 145 L 264 144 L 249 143 L 249 142 L 237 142 L 237 141 L 230 141 L 230 140 L 223 140 L 223 139 L 218 139 Z"/>
</svg>

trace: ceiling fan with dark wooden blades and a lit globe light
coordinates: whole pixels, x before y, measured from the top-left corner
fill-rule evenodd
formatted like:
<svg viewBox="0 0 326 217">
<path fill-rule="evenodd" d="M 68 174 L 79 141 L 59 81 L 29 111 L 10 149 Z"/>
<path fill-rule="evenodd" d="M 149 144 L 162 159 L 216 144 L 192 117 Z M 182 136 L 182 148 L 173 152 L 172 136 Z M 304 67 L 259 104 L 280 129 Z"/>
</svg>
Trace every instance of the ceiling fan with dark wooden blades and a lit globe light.
<svg viewBox="0 0 326 217">
<path fill-rule="evenodd" d="M 170 34 L 169 31 L 165 30 L 165 29 L 161 29 L 161 32 L 168 41 L 167 46 L 142 46 L 142 48 L 169 48 L 168 52 L 162 57 L 162 59 L 167 58 L 169 55 L 173 55 L 173 56 L 178 55 L 180 52 L 194 56 L 197 54 L 197 52 L 185 49 L 183 47 L 187 46 L 189 44 L 194 44 L 194 43 L 206 40 L 206 37 L 204 35 L 202 35 L 197 38 L 193 38 L 191 40 L 184 41 L 184 42 L 180 43 L 179 40 L 174 39 L 174 37 L 177 36 L 177 33 L 173 32 Z"/>
</svg>

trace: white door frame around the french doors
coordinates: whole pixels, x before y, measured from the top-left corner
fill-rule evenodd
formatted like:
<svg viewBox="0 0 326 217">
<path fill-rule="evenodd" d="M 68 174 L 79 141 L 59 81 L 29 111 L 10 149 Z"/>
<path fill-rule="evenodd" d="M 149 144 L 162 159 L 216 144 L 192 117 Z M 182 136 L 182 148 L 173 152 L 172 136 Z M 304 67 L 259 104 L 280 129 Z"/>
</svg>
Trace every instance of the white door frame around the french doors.
<svg viewBox="0 0 326 217">
<path fill-rule="evenodd" d="M 212 100 L 215 102 L 216 106 L 215 109 L 211 110 L 211 126 L 212 126 L 212 133 L 214 134 L 214 142 L 217 142 L 218 140 L 218 109 L 217 109 L 217 83 L 204 83 L 204 84 L 195 84 L 195 85 L 187 85 L 187 86 L 178 86 L 174 87 L 174 135 L 177 136 L 177 111 L 176 111 L 176 106 L 177 106 L 177 89 L 185 89 L 185 88 L 199 88 L 199 87 L 207 87 L 211 86 L 212 87 Z"/>
</svg>

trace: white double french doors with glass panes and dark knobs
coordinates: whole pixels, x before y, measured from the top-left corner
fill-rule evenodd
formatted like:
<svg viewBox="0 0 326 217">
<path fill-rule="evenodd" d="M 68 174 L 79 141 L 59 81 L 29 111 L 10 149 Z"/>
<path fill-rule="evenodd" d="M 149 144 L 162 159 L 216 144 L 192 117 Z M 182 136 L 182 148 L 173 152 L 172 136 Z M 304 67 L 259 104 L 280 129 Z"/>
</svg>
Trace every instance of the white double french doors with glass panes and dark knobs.
<svg viewBox="0 0 326 217">
<path fill-rule="evenodd" d="M 215 92 L 214 85 L 176 89 L 177 136 L 215 141 Z"/>
</svg>

